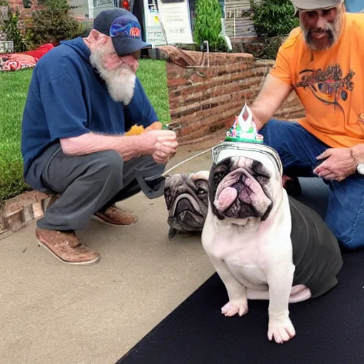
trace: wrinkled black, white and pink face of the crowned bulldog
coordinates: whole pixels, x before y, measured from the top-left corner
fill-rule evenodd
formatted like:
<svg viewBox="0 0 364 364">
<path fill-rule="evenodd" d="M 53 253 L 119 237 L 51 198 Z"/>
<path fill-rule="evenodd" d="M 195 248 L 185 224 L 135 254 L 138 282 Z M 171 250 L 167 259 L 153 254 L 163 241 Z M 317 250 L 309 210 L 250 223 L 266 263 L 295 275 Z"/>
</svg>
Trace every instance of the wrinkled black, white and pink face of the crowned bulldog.
<svg viewBox="0 0 364 364">
<path fill-rule="evenodd" d="M 247 218 L 266 220 L 282 184 L 273 163 L 263 166 L 255 159 L 232 156 L 213 164 L 209 187 L 213 213 L 220 220 L 239 223 Z"/>
</svg>

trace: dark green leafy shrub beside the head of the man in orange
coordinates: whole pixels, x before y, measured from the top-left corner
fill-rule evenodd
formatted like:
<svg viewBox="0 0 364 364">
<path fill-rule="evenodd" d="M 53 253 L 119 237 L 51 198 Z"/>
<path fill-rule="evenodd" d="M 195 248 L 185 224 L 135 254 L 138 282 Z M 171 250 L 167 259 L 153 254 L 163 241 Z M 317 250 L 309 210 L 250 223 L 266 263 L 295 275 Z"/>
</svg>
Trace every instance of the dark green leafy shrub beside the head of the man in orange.
<svg viewBox="0 0 364 364">
<path fill-rule="evenodd" d="M 252 7 L 252 21 L 259 36 L 287 36 L 293 28 L 299 26 L 299 19 L 294 16 L 294 6 L 290 0 L 262 0 Z"/>
</svg>

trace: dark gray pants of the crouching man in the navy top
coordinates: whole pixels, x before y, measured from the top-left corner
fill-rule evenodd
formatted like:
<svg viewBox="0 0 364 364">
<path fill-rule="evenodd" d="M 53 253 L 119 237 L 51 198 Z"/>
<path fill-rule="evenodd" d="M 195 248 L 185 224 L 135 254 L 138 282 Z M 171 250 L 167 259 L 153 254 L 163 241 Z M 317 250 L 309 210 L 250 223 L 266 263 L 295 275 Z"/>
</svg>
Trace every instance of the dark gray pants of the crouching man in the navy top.
<svg viewBox="0 0 364 364">
<path fill-rule="evenodd" d="M 124 162 L 112 150 L 67 156 L 59 147 L 45 164 L 41 181 L 50 192 L 61 196 L 37 225 L 50 230 L 82 230 L 93 214 L 139 191 L 149 198 L 158 197 L 149 195 L 142 176 L 160 175 L 164 168 L 150 156 Z"/>
</svg>

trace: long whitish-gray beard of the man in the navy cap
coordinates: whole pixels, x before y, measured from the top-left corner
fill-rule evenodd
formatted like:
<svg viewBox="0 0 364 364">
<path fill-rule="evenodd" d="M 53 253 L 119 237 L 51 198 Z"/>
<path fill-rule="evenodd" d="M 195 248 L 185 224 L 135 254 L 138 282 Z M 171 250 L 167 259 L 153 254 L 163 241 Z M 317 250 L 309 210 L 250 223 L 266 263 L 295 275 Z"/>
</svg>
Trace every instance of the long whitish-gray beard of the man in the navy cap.
<svg viewBox="0 0 364 364">
<path fill-rule="evenodd" d="M 102 54 L 97 52 L 91 53 L 90 63 L 105 81 L 112 100 L 128 105 L 134 96 L 135 81 L 137 79 L 135 73 L 127 65 L 116 70 L 107 70 L 102 63 Z"/>
</svg>

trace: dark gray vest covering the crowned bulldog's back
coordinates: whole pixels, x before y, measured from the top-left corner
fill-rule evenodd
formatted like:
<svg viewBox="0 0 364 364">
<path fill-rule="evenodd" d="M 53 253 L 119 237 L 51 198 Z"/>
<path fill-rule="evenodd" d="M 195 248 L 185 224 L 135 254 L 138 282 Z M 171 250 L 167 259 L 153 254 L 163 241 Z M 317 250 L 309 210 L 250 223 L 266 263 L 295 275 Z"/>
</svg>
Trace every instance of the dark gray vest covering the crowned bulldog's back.
<svg viewBox="0 0 364 364">
<path fill-rule="evenodd" d="M 290 196 L 289 206 L 296 266 L 293 284 L 304 284 L 317 297 L 338 284 L 336 274 L 343 265 L 338 240 L 314 210 Z"/>
</svg>

